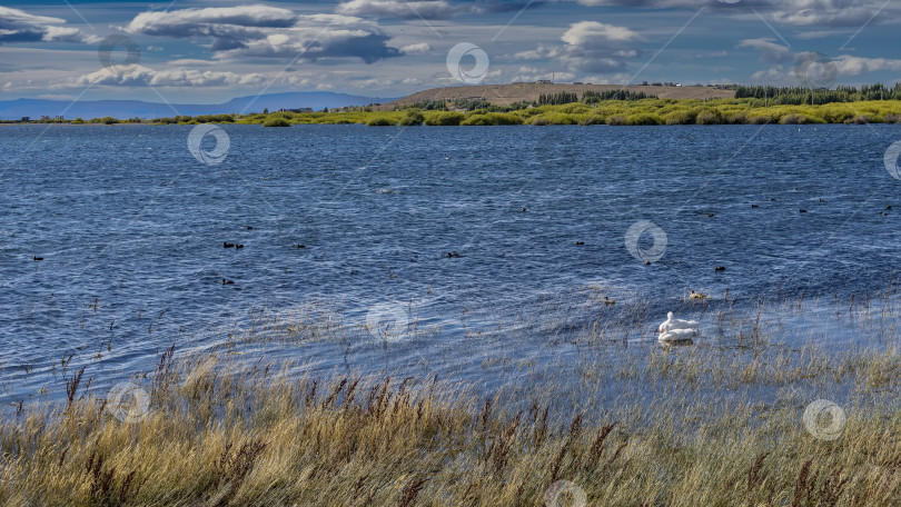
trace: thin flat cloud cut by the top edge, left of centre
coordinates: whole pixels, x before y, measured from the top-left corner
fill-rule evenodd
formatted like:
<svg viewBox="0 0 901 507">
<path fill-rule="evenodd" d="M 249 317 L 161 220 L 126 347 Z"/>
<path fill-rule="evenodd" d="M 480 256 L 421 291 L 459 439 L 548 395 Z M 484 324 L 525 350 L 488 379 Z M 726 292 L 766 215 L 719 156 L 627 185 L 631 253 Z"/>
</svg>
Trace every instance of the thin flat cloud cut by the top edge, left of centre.
<svg viewBox="0 0 901 507">
<path fill-rule="evenodd" d="M 450 19 L 463 14 L 486 14 L 535 8 L 542 2 L 522 0 L 491 0 L 481 3 L 453 3 L 447 0 L 350 0 L 340 3 L 335 12 L 367 18 Z"/>
</svg>

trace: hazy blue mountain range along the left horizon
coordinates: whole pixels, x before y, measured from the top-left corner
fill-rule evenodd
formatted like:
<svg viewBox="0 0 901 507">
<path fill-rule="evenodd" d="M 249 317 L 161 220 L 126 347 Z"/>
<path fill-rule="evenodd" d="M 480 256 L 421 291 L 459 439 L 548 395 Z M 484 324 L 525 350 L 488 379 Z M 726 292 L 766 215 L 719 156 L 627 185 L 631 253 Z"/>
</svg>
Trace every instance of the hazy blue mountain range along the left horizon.
<svg viewBox="0 0 901 507">
<path fill-rule="evenodd" d="M 257 98 L 256 96 L 239 97 L 225 103 L 186 105 L 145 102 L 141 100 L 81 100 L 75 103 L 67 100 L 18 99 L 0 100 L 0 119 L 19 119 L 41 116 L 63 116 L 73 118 L 164 118 L 176 115 L 219 115 L 230 112 L 259 112 L 264 108 L 275 111 L 280 108 L 300 109 L 339 108 L 345 106 L 366 106 L 368 103 L 385 103 L 394 99 L 378 97 L 362 97 L 346 93 L 320 92 L 289 92 L 269 93 Z"/>
</svg>

